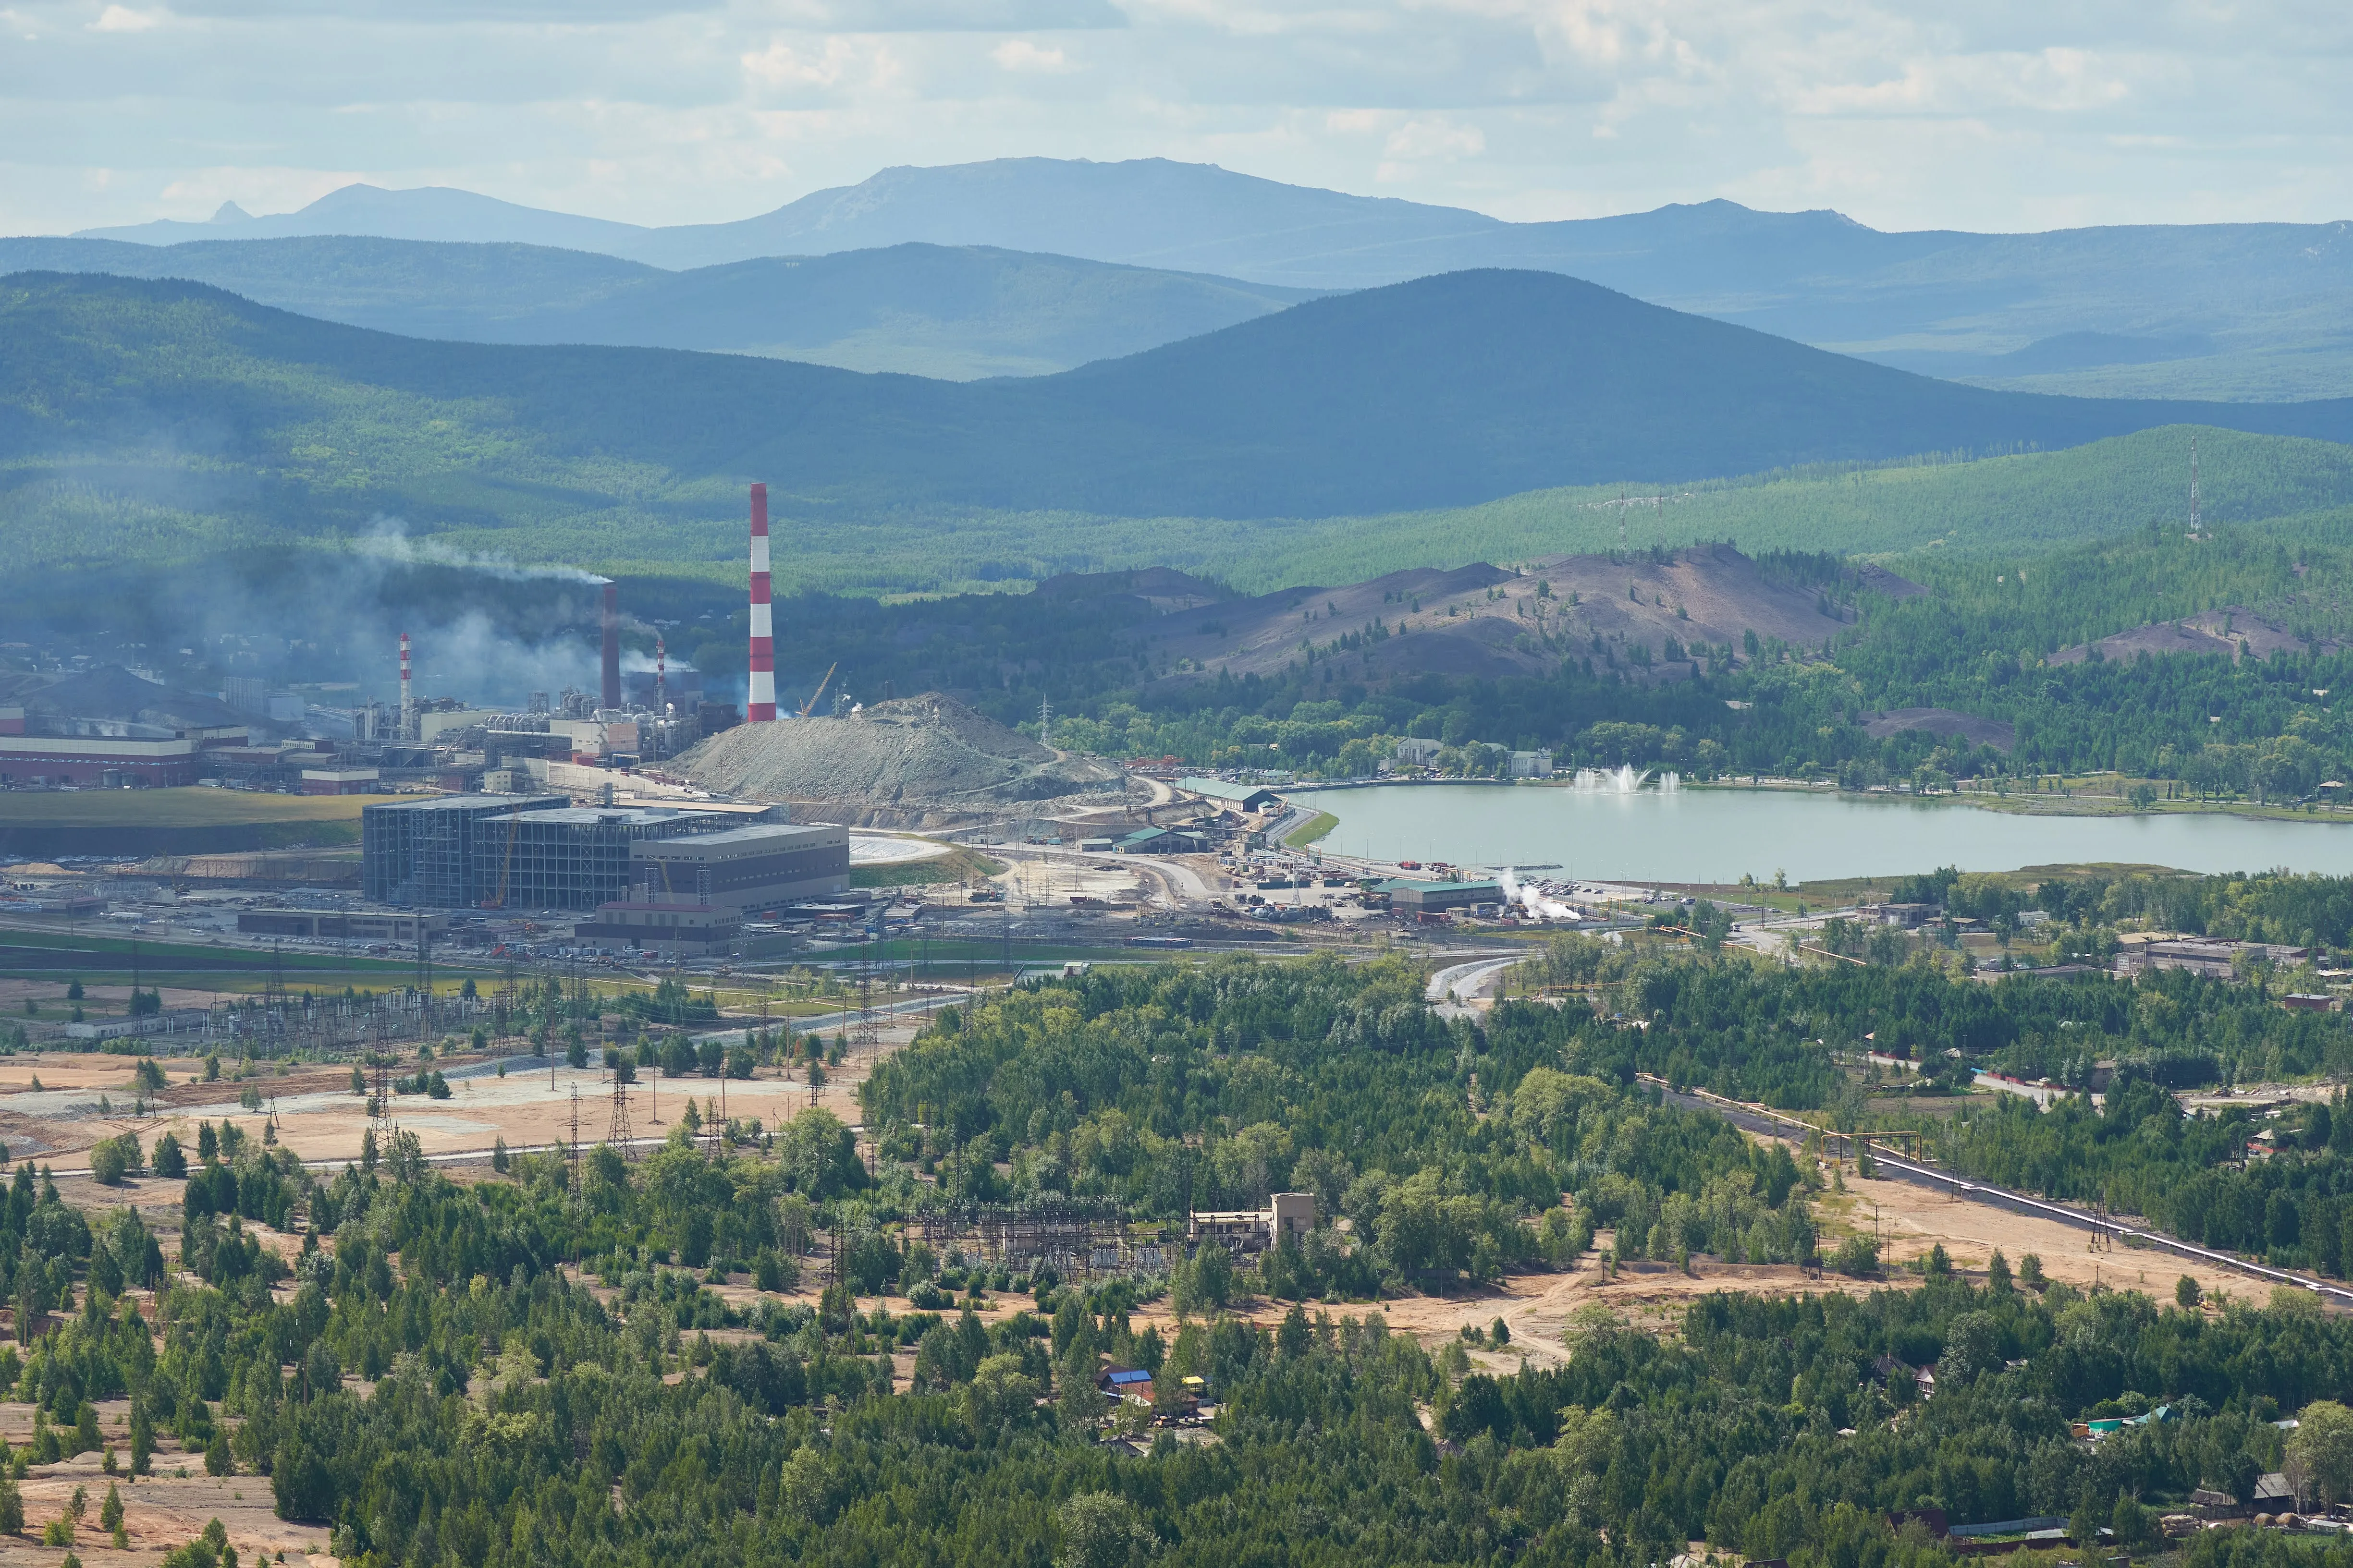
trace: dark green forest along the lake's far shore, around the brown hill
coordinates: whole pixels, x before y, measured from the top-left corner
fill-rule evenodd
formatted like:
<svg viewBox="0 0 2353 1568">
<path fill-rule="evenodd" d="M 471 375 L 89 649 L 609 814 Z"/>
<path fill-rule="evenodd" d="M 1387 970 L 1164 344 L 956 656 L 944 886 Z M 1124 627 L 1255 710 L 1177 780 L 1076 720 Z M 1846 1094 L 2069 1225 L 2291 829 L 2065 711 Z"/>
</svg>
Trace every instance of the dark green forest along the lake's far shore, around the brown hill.
<svg viewBox="0 0 2353 1568">
<path fill-rule="evenodd" d="M 1329 668 L 1282 677 L 1186 677 L 1153 663 L 1118 578 L 1061 592 L 1052 616 L 1021 595 L 908 604 L 805 597 L 776 616 L 779 684 L 838 679 L 861 696 L 946 689 L 1007 724 L 1056 708 L 1056 741 L 1106 757 L 1235 764 L 1278 748 L 1306 776 L 1365 776 L 1398 736 L 1551 750 L 1560 766 L 1671 766 L 1692 778 L 1784 773 L 1887 780 L 1984 776 L 2033 788 L 2045 773 L 2122 771 L 2184 797 L 2301 799 L 2353 766 L 2337 717 L 2353 689 L 2353 550 L 2341 520 L 2179 529 L 2042 555 L 1897 559 L 1932 592 L 1864 592 L 1840 559 L 1765 555 L 1767 574 L 1847 602 L 1859 618 L 1831 649 L 1708 651 L 1706 675 L 1649 682 L 1569 649 L 1558 675 L 1402 677 L 1367 689 Z M 2304 642 L 2271 658 L 2162 656 L 2049 663 L 2061 649 L 2151 621 L 2242 607 Z M 1694 649 L 1697 651 L 1697 649 Z M 729 632 L 706 670 L 741 665 Z M 2009 752 L 1925 731 L 1873 738 L 1864 717 L 1953 708 L 2014 726 Z M 1449 759 L 1452 762 L 1452 759 Z M 1464 771 L 1475 755 L 1459 750 Z M 1492 762 L 1487 764 L 1492 766 Z"/>
</svg>

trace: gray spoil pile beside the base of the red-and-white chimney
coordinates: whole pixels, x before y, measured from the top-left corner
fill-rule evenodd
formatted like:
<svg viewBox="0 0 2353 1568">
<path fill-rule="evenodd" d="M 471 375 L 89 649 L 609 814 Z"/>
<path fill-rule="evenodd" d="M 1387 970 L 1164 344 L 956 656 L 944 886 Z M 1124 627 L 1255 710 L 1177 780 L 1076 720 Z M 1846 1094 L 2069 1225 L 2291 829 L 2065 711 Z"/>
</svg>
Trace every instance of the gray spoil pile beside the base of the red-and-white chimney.
<svg viewBox="0 0 2353 1568">
<path fill-rule="evenodd" d="M 828 802 L 861 823 L 906 809 L 995 816 L 1005 806 L 1118 792 L 1120 773 L 1061 757 L 962 703 L 927 693 L 847 719 L 779 719 L 725 729 L 678 771 L 751 799 Z M 901 816 L 901 820 L 906 820 Z"/>
</svg>

